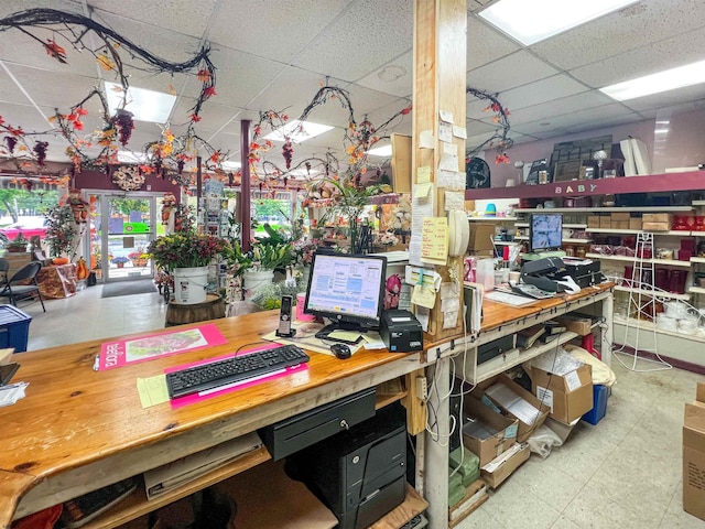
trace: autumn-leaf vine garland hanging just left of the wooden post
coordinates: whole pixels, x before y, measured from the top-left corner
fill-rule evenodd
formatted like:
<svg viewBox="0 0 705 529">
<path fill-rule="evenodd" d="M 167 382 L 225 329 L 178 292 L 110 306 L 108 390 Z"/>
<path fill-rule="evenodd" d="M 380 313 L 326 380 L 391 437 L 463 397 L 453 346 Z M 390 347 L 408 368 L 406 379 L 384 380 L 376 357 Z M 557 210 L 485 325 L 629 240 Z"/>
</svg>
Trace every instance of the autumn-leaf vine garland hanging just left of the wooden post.
<svg viewBox="0 0 705 529">
<path fill-rule="evenodd" d="M 305 134 L 304 121 L 317 107 L 332 101 L 337 101 L 348 114 L 348 127 L 343 136 L 343 145 L 347 154 L 347 169 L 344 174 L 340 174 L 340 161 L 329 151 L 293 164 L 294 137 Z M 336 179 L 360 186 L 361 177 L 369 169 L 368 151 L 380 140 L 389 139 L 388 129 L 392 123 L 395 125 L 404 116 L 408 116 L 411 109 L 411 105 L 404 107 L 379 126 L 375 126 L 367 116 L 358 123 L 355 118 L 350 94 L 337 86 L 332 86 L 327 83 L 322 84 L 311 102 L 296 118 L 301 125 L 283 133 L 284 144 L 281 152 L 283 163 L 275 161 L 274 156 L 270 155 L 274 144 L 272 141 L 263 139 L 263 136 L 269 131 L 283 129 L 290 122 L 290 116 L 284 111 L 275 110 L 260 112 L 260 119 L 253 127 L 252 141 L 250 143 L 249 163 L 252 180 L 259 185 L 260 191 L 281 187 L 282 184 L 286 187 L 291 184 L 293 176 L 296 177 L 297 183 L 301 180 L 306 183 L 312 180 Z M 376 169 L 379 174 L 382 173 L 381 166 L 376 166 Z"/>
</svg>

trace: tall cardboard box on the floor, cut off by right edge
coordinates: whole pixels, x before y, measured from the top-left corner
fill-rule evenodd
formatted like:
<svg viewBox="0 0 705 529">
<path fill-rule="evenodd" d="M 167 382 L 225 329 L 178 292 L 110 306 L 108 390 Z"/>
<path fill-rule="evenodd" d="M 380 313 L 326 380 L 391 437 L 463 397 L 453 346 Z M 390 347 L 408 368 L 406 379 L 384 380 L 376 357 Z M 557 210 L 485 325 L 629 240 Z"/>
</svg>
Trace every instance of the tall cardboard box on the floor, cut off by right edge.
<svg viewBox="0 0 705 529">
<path fill-rule="evenodd" d="M 705 384 L 685 404 L 683 421 L 683 510 L 705 520 Z"/>
</svg>

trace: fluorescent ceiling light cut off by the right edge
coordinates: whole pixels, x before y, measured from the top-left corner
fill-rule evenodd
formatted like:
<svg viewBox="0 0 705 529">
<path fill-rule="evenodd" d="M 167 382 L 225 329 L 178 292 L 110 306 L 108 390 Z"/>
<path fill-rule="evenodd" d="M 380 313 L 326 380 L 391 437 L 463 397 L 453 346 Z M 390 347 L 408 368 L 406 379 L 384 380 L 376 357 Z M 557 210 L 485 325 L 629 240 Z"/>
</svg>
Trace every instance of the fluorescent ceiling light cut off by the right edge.
<svg viewBox="0 0 705 529">
<path fill-rule="evenodd" d="M 625 101 L 701 83 L 705 83 L 705 61 L 666 69 L 658 74 L 646 75 L 638 79 L 617 83 L 616 85 L 600 88 L 600 91 L 618 101 Z"/>
</svg>

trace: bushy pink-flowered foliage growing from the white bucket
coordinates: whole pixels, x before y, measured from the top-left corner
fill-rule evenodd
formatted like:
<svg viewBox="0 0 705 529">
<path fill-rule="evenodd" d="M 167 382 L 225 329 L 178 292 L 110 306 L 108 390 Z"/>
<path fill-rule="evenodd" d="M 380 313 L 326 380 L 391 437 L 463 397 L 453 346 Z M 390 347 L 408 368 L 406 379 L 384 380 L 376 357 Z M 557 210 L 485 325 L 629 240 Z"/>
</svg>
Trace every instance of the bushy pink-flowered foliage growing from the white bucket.
<svg viewBox="0 0 705 529">
<path fill-rule="evenodd" d="M 177 231 L 150 242 L 147 253 L 154 264 L 167 271 L 175 268 L 206 267 L 229 247 L 227 240 L 195 231 Z"/>
</svg>

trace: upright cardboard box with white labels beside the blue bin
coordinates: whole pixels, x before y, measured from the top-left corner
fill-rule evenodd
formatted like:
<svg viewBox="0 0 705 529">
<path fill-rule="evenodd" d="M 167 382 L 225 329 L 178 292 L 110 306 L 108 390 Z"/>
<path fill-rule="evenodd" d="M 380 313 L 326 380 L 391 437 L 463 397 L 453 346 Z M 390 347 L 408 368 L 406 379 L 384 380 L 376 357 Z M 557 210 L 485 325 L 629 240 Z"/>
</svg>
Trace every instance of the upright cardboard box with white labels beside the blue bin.
<svg viewBox="0 0 705 529">
<path fill-rule="evenodd" d="M 536 398 L 549 404 L 550 417 L 571 423 L 593 409 L 593 367 L 584 364 L 564 376 L 532 367 L 529 377 Z"/>
</svg>

